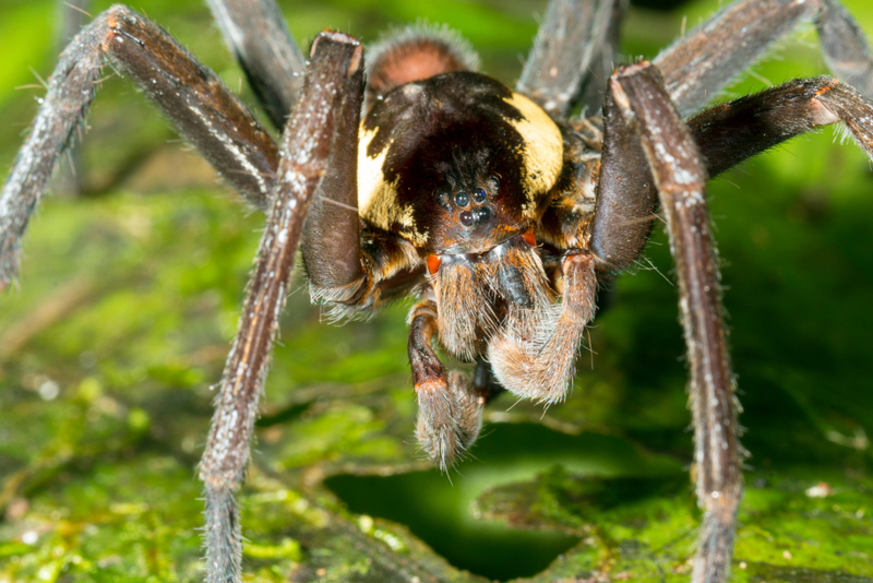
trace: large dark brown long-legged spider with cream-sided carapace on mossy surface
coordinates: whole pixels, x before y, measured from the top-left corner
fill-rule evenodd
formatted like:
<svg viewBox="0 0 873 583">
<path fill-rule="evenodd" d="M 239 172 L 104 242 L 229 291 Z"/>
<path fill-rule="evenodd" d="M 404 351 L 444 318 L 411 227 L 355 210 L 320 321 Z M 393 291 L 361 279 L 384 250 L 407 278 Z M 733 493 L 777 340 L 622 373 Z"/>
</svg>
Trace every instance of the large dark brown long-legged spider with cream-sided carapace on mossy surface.
<svg viewBox="0 0 873 583">
<path fill-rule="evenodd" d="M 705 182 L 836 122 L 873 157 L 864 97 L 873 95 L 873 59 L 852 17 L 836 0 L 740 0 L 651 62 L 610 72 L 623 3 L 553 0 L 511 90 L 477 73 L 468 48 L 435 29 L 396 34 L 366 57 L 355 38 L 322 33 L 304 64 L 272 1 L 242 4 L 211 8 L 267 117 L 284 128 L 279 145 L 171 37 L 113 7 L 62 55 L 0 197 L 5 286 L 27 219 L 109 62 L 225 180 L 268 209 L 200 468 L 207 579 L 239 578 L 234 492 L 299 241 L 311 293 L 337 318 L 418 298 L 408 348 L 416 432 L 447 468 L 478 437 L 495 394 L 564 400 L 598 286 L 637 260 L 660 206 L 677 263 L 704 509 L 692 579 L 723 581 L 743 452 Z M 842 82 L 790 81 L 703 109 L 804 20 L 815 22 Z M 474 364 L 474 373 L 449 371 L 433 344 Z"/>
</svg>

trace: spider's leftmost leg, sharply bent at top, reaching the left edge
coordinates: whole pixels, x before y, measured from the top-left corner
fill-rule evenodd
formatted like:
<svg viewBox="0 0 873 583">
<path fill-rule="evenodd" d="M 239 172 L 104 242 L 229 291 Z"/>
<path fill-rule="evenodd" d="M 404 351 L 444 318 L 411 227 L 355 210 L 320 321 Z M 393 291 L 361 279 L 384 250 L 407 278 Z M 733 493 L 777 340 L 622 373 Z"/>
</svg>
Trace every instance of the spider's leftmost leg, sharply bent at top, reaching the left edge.
<svg viewBox="0 0 873 583">
<path fill-rule="evenodd" d="M 0 289 L 15 275 L 27 221 L 58 159 L 81 129 L 107 62 L 133 79 L 234 188 L 256 206 L 267 206 L 278 164 L 270 134 L 215 73 L 166 32 L 116 5 L 94 19 L 61 55 L 3 185 Z"/>
</svg>

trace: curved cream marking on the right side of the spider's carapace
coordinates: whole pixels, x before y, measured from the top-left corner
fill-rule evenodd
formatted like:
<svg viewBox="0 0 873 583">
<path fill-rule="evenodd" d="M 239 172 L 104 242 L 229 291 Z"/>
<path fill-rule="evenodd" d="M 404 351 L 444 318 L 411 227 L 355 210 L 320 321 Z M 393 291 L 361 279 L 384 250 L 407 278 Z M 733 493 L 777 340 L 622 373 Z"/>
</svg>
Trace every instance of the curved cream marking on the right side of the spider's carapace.
<svg viewBox="0 0 873 583">
<path fill-rule="evenodd" d="M 539 199 L 558 181 L 564 164 L 564 141 L 552 118 L 521 93 L 513 93 L 506 103 L 518 109 L 523 117 L 519 121 L 509 122 L 525 141 L 525 148 L 522 151 L 527 195 L 524 213 L 533 218 Z"/>
</svg>

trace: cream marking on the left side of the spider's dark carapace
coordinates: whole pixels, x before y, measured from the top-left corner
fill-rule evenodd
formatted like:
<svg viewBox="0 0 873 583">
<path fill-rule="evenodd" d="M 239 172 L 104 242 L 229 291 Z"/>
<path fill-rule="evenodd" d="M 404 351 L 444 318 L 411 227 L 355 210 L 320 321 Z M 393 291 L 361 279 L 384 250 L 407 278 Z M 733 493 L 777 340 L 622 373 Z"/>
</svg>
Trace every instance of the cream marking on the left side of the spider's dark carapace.
<svg viewBox="0 0 873 583">
<path fill-rule="evenodd" d="M 358 130 L 358 214 L 379 228 L 391 230 L 394 223 L 400 224 L 403 233 L 415 246 L 427 242 L 428 236 L 415 223 L 412 207 L 397 200 L 397 181 L 386 182 L 382 168 L 392 142 L 375 155 L 367 155 L 379 128 L 368 131 L 361 124 Z M 399 180 L 399 179 L 398 179 Z"/>
</svg>

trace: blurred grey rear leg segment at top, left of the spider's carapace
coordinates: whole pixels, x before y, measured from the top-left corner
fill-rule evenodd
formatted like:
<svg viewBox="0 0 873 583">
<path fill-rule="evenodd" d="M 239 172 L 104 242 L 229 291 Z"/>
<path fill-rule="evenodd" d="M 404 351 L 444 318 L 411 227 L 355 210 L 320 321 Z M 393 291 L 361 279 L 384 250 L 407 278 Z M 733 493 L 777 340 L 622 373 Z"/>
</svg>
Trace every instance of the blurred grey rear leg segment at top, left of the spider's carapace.
<svg viewBox="0 0 873 583">
<path fill-rule="evenodd" d="M 225 41 L 277 129 L 303 83 L 306 60 L 275 0 L 207 0 Z"/>
</svg>

